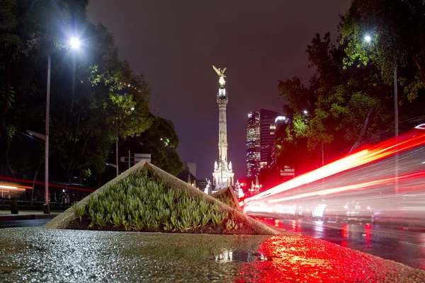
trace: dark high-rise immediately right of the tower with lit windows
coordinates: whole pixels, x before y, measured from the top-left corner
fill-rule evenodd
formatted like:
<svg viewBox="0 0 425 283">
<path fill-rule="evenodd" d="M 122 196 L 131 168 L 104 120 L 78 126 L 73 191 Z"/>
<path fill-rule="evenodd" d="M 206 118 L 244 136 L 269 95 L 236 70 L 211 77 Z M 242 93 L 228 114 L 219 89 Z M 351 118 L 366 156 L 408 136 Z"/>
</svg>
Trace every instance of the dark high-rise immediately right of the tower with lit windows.
<svg viewBox="0 0 425 283">
<path fill-rule="evenodd" d="M 276 117 L 280 113 L 272 110 L 260 110 L 260 139 L 261 139 L 261 159 L 260 167 L 268 167 L 271 163 L 271 150 L 274 146 L 274 138 L 276 134 Z"/>
</svg>

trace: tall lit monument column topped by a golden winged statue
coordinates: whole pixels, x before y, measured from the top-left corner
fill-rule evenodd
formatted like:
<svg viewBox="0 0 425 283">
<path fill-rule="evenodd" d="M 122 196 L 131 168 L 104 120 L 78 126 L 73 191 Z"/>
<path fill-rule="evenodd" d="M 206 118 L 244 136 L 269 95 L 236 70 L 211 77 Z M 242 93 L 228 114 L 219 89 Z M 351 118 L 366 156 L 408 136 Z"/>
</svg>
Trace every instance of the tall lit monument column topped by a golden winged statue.
<svg viewBox="0 0 425 283">
<path fill-rule="evenodd" d="M 219 77 L 218 83 L 220 83 L 220 88 L 217 93 L 217 105 L 218 105 L 218 154 L 220 160 L 215 161 L 214 172 L 212 177 L 214 178 L 215 190 L 220 190 L 222 188 L 228 187 L 229 185 L 234 185 L 233 177 L 234 173 L 232 171 L 232 162 L 227 163 L 227 120 L 226 120 L 226 108 L 229 98 L 227 96 L 225 88 L 225 71 L 226 68 L 221 70 L 217 69 L 214 66 L 212 68 L 217 72 Z"/>
</svg>

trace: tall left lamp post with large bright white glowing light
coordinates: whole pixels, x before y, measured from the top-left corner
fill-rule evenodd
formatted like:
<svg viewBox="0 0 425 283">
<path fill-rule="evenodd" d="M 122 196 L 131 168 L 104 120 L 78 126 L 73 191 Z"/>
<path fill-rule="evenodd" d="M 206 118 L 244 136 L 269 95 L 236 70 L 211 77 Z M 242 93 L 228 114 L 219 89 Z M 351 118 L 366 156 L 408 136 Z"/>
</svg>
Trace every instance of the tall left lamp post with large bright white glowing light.
<svg viewBox="0 0 425 283">
<path fill-rule="evenodd" d="M 77 37 L 71 37 L 69 46 L 72 49 L 78 49 L 80 41 Z M 43 205 L 43 212 L 50 214 L 49 205 L 49 114 L 50 114 L 50 65 L 52 62 L 52 54 L 49 52 L 47 57 L 47 93 L 46 93 L 46 135 L 45 135 L 45 204 Z"/>
</svg>

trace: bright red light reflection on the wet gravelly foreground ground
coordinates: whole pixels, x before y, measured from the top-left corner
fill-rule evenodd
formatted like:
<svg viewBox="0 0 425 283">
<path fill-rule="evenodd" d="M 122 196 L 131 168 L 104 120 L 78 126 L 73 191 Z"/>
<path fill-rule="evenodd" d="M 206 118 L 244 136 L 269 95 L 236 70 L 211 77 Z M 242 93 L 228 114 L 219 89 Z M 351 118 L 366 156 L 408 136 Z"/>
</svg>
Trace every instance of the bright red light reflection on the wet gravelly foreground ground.
<svg viewBox="0 0 425 283">
<path fill-rule="evenodd" d="M 383 282 L 389 275 L 397 282 L 409 276 L 396 262 L 307 236 L 273 236 L 253 255 L 234 282 Z"/>
</svg>

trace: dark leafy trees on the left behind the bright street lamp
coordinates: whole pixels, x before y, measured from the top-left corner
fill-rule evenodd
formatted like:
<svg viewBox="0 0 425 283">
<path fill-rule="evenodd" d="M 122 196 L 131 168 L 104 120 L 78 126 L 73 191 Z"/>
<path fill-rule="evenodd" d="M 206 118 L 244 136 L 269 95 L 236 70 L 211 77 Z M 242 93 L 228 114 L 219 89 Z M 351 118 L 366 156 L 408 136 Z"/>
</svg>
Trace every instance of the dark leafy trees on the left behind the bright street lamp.
<svg viewBox="0 0 425 283">
<path fill-rule="evenodd" d="M 44 141 L 28 139 L 26 131 L 45 132 L 48 54 L 55 178 L 103 172 L 117 139 L 140 137 L 157 121 L 149 112 L 145 77 L 118 57 L 114 36 L 104 25 L 89 23 L 88 2 L 0 0 L 0 175 L 28 177 L 43 160 Z M 71 36 L 80 38 L 80 50 L 69 47 Z M 169 139 L 174 152 L 165 149 L 166 154 L 179 160 L 176 133 Z M 33 156 L 23 156 L 28 151 L 21 146 L 34 149 Z M 26 162 L 19 161 L 23 158 Z"/>
</svg>

